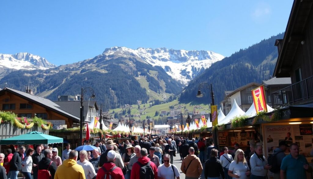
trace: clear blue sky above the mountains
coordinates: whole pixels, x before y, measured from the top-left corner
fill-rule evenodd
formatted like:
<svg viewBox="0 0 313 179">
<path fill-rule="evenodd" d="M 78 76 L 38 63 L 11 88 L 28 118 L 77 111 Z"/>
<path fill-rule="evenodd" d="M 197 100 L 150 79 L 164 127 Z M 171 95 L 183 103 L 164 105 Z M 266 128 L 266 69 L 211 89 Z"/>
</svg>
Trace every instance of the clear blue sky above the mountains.
<svg viewBox="0 0 313 179">
<path fill-rule="evenodd" d="M 56 65 L 125 46 L 230 56 L 284 32 L 292 0 L 0 1 L 0 53 Z M 274 44 L 273 44 L 274 45 Z"/>
</svg>

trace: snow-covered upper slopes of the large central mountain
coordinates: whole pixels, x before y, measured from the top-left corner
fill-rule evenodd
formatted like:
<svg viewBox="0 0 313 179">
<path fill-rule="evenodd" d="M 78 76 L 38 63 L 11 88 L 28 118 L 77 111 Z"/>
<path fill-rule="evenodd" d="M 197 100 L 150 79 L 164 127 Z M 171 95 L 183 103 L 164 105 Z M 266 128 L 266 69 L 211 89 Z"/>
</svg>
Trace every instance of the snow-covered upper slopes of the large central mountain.
<svg viewBox="0 0 313 179">
<path fill-rule="evenodd" d="M 100 56 L 105 56 L 105 59 L 118 56 L 133 57 L 152 66 L 161 66 L 173 79 L 186 85 L 201 70 L 224 58 L 223 55 L 204 50 L 168 50 L 167 48 L 133 50 L 126 47 L 107 48 Z"/>
</svg>

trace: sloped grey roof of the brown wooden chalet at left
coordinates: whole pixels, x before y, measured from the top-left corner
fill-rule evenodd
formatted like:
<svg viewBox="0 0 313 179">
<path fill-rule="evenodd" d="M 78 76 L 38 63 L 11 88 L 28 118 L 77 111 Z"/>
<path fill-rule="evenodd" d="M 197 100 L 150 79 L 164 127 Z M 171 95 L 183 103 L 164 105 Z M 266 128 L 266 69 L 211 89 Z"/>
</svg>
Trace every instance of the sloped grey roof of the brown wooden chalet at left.
<svg viewBox="0 0 313 179">
<path fill-rule="evenodd" d="M 73 114 L 71 113 L 68 113 L 62 109 L 60 109 L 59 105 L 50 101 L 49 99 L 46 99 L 46 98 L 43 98 L 43 97 L 38 97 L 38 96 L 35 96 L 35 95 L 31 95 L 31 94 L 28 94 L 26 92 L 21 92 L 21 91 L 18 91 L 18 90 L 15 90 L 15 89 L 11 89 L 11 88 L 4 88 L 3 90 L 0 91 L 0 93 L 3 93 L 3 92 L 10 92 L 10 93 L 13 93 L 19 97 L 22 97 L 24 99 L 27 99 L 28 101 L 31 101 L 35 104 L 38 104 L 40 106 L 43 106 L 51 111 L 54 111 L 55 113 L 58 113 L 58 114 L 61 114 L 67 118 L 70 118 L 73 120 L 73 122 L 76 122 L 78 123 L 80 121 L 80 118 L 79 117 L 76 117 L 74 116 Z"/>
</svg>

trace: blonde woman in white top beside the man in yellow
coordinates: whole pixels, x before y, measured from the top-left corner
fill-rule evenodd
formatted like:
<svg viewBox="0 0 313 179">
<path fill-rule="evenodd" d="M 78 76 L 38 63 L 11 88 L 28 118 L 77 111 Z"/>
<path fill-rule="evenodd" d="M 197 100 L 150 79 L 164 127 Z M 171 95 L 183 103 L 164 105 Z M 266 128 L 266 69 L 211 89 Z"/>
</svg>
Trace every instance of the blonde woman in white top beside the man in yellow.
<svg viewBox="0 0 313 179">
<path fill-rule="evenodd" d="M 87 151 L 86 150 L 81 150 L 79 152 L 79 157 L 80 160 L 77 161 L 77 164 L 81 165 L 85 171 L 85 177 L 86 179 L 92 179 L 95 175 L 95 168 L 92 165 L 92 163 L 90 163 L 90 161 L 88 161 L 88 156 L 87 156 Z"/>
</svg>

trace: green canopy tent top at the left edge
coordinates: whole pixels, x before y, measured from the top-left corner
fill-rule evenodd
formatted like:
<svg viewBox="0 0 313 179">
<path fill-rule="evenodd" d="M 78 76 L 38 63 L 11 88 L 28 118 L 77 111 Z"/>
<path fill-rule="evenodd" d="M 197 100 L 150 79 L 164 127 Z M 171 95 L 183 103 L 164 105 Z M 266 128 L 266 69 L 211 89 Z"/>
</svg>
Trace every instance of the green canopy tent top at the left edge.
<svg viewBox="0 0 313 179">
<path fill-rule="evenodd" d="M 47 135 L 42 132 L 28 132 L 27 134 L 0 140 L 0 145 L 24 145 L 24 144 L 54 144 L 63 143 L 63 138 Z"/>
</svg>

